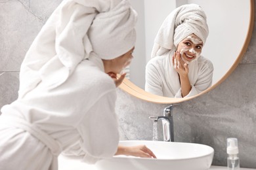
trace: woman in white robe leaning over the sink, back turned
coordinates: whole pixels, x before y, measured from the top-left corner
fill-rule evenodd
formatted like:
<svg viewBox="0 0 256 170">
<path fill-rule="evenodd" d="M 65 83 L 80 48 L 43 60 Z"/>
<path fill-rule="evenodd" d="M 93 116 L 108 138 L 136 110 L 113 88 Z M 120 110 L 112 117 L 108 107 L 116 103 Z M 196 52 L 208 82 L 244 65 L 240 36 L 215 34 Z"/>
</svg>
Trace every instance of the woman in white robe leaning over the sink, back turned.
<svg viewBox="0 0 256 170">
<path fill-rule="evenodd" d="M 58 169 L 61 152 L 95 163 L 146 146 L 118 146 L 116 86 L 135 45 L 137 13 L 126 0 L 65 0 L 33 41 L 16 101 L 0 116 L 0 169 Z"/>
</svg>

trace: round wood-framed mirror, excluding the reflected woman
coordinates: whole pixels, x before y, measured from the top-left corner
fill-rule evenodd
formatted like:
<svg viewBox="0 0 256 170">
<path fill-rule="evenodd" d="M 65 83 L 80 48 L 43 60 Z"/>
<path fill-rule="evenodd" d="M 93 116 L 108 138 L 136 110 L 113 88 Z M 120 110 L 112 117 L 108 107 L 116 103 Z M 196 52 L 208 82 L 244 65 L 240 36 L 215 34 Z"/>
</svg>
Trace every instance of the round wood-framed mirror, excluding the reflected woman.
<svg viewBox="0 0 256 170">
<path fill-rule="evenodd" d="M 209 92 L 234 71 L 251 39 L 254 24 L 253 0 L 131 0 L 131 3 L 139 13 L 137 44 L 134 59 L 126 70 L 127 78 L 119 88 L 146 101 L 179 103 Z M 200 5 L 207 16 L 209 36 L 203 46 L 202 56 L 213 63 L 213 85 L 198 95 L 185 98 L 161 97 L 145 92 L 145 67 L 150 60 L 156 33 L 172 10 L 188 3 Z"/>
</svg>

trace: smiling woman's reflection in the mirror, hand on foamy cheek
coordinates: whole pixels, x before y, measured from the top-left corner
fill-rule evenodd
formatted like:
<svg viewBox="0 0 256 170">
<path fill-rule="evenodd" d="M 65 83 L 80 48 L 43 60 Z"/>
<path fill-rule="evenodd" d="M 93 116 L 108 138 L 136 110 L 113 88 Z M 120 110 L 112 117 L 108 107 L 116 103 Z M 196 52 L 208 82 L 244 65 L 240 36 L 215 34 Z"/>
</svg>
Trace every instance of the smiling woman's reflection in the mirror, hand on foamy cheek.
<svg viewBox="0 0 256 170">
<path fill-rule="evenodd" d="M 182 5 L 164 20 L 146 65 L 145 90 L 165 97 L 190 97 L 211 86 L 213 64 L 201 56 L 208 35 L 206 16 Z"/>
</svg>

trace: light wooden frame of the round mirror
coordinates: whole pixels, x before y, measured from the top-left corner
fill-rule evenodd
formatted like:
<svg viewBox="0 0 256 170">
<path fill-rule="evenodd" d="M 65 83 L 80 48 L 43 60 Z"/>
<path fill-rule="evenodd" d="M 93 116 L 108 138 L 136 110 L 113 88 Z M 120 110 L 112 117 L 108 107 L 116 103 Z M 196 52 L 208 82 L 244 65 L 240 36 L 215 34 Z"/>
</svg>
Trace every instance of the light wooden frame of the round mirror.
<svg viewBox="0 0 256 170">
<path fill-rule="evenodd" d="M 144 100 L 144 101 L 148 101 L 148 102 L 152 102 L 152 103 L 161 103 L 161 104 L 181 103 L 183 101 L 188 101 L 190 99 L 194 99 L 194 98 L 198 97 L 199 95 L 202 95 L 204 93 L 209 92 L 210 90 L 213 90 L 214 88 L 219 86 L 219 84 L 221 84 L 224 80 L 226 80 L 226 78 L 228 78 L 228 76 L 234 71 L 234 69 L 236 69 L 236 67 L 238 66 L 238 64 L 240 63 L 242 58 L 244 57 L 247 47 L 249 46 L 249 42 L 251 41 L 251 35 L 253 33 L 254 17 L 255 17 L 254 15 L 255 15 L 254 0 L 250 0 L 249 27 L 247 29 L 245 42 L 242 47 L 242 50 L 240 51 L 240 54 L 234 61 L 234 64 L 227 71 L 227 73 L 221 78 L 221 80 L 219 80 L 218 82 L 213 84 L 213 86 L 211 86 L 210 88 L 207 88 L 207 90 L 204 90 L 203 92 L 199 93 L 198 95 L 194 95 L 192 97 L 186 97 L 186 98 L 162 97 L 160 95 L 154 95 L 152 93 L 148 93 L 148 92 L 142 90 L 141 88 L 139 88 L 138 86 L 133 84 L 133 82 L 131 82 L 130 80 L 128 80 L 126 78 L 125 78 L 125 80 L 123 80 L 123 83 L 119 86 L 119 88 L 121 90 L 139 98 L 139 99 Z"/>
</svg>

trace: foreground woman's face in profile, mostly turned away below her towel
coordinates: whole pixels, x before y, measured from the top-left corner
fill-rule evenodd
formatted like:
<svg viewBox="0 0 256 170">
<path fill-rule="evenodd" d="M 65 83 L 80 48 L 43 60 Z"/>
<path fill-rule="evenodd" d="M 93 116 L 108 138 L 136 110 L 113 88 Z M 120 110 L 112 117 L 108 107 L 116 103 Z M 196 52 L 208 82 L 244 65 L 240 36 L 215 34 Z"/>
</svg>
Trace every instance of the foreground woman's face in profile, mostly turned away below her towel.
<svg viewBox="0 0 256 170">
<path fill-rule="evenodd" d="M 125 54 L 110 60 L 104 60 L 104 69 L 106 73 L 115 73 L 119 74 L 125 67 L 127 67 L 131 63 L 131 59 L 133 59 L 133 47 L 131 50 L 126 52 Z"/>
</svg>

